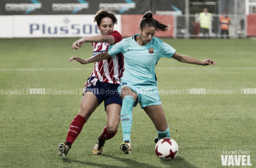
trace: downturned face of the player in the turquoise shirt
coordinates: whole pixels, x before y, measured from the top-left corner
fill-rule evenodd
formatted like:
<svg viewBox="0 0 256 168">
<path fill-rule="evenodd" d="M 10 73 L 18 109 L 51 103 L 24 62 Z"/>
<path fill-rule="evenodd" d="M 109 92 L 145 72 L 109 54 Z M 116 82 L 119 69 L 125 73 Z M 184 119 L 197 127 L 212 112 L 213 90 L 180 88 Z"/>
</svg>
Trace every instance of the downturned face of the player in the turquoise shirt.
<svg viewBox="0 0 256 168">
<path fill-rule="evenodd" d="M 139 38 L 141 38 L 143 46 L 148 44 L 154 37 L 156 28 L 145 26 L 143 30 L 139 28 Z"/>
</svg>

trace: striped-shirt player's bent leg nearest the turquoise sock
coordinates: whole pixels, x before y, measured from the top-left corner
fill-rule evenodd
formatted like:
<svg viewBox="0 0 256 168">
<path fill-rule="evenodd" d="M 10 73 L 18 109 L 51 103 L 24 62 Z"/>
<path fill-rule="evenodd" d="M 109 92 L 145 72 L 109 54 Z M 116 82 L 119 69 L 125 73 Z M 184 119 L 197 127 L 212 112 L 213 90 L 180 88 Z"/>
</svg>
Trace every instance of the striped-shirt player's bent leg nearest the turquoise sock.
<svg viewBox="0 0 256 168">
<path fill-rule="evenodd" d="M 120 99 L 120 97 L 117 97 L 117 98 Z M 120 103 L 121 103 L 121 99 L 120 99 Z M 120 104 L 110 103 L 108 104 L 108 106 L 106 106 L 106 126 L 104 127 L 102 134 L 98 136 L 98 140 L 92 151 L 94 154 L 99 155 L 100 153 L 102 153 L 105 140 L 109 140 L 110 138 L 113 138 L 115 134 L 117 134 L 117 128 L 120 123 L 120 112 L 121 112 Z"/>
</svg>

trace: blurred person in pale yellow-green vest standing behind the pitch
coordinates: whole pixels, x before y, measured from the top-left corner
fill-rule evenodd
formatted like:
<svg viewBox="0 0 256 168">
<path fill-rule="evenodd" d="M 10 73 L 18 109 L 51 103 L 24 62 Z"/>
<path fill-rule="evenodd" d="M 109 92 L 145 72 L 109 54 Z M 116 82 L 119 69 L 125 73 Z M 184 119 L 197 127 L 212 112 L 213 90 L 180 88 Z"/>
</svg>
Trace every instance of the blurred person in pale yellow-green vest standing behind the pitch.
<svg viewBox="0 0 256 168">
<path fill-rule="evenodd" d="M 212 14 L 208 13 L 208 9 L 205 7 L 203 8 L 203 12 L 200 13 L 199 15 L 199 23 L 200 23 L 200 28 L 201 32 L 203 32 L 203 35 L 208 34 L 208 37 L 210 38 L 210 28 L 212 26 Z"/>
</svg>

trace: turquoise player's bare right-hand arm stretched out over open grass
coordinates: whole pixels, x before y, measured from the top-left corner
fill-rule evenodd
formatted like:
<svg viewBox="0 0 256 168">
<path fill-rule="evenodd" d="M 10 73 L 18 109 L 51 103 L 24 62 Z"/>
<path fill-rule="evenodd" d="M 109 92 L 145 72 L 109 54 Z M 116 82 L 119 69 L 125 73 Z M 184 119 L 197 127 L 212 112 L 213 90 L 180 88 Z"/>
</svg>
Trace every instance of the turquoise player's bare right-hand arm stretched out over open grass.
<svg viewBox="0 0 256 168">
<path fill-rule="evenodd" d="M 185 62 L 188 64 L 195 64 L 195 65 L 214 65 L 214 67 L 216 66 L 216 62 L 210 58 L 207 58 L 206 60 L 197 60 L 195 58 L 192 58 L 190 56 L 185 56 L 185 55 L 181 55 L 178 52 L 175 52 L 172 55 L 172 58 L 174 58 L 175 60 L 178 60 L 179 62 Z"/>
</svg>

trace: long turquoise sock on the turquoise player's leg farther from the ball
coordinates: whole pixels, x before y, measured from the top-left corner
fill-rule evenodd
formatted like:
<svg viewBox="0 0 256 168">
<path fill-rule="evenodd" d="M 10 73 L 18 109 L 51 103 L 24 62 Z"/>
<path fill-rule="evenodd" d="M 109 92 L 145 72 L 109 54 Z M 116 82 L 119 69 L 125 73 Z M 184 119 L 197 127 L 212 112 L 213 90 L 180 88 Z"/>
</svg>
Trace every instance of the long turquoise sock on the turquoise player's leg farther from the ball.
<svg viewBox="0 0 256 168">
<path fill-rule="evenodd" d="M 131 142 L 131 125 L 133 123 L 133 109 L 134 99 L 130 95 L 123 98 L 121 109 L 121 124 L 123 130 L 123 142 L 129 140 Z"/>
</svg>

